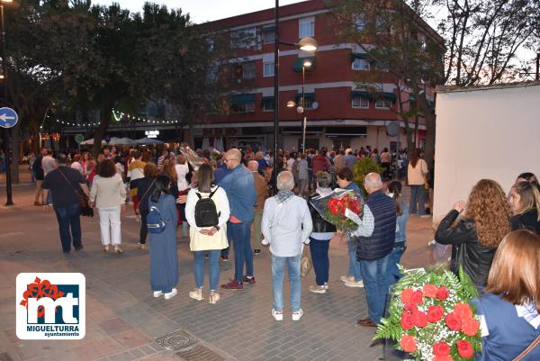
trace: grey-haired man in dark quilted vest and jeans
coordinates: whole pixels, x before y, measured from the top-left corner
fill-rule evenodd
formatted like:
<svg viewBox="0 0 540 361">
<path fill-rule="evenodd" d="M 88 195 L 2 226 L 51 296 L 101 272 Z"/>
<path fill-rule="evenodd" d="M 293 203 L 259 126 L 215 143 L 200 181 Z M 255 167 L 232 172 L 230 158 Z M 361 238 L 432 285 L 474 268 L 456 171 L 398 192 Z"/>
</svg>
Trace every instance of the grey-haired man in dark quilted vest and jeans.
<svg viewBox="0 0 540 361">
<path fill-rule="evenodd" d="M 358 237 L 356 259 L 364 277 L 369 316 L 358 320 L 358 325 L 377 327 L 388 297 L 386 273 L 395 241 L 397 207 L 394 200 L 383 193 L 383 180 L 379 174 L 365 176 L 364 187 L 369 195 L 362 223 L 354 235 Z"/>
</svg>

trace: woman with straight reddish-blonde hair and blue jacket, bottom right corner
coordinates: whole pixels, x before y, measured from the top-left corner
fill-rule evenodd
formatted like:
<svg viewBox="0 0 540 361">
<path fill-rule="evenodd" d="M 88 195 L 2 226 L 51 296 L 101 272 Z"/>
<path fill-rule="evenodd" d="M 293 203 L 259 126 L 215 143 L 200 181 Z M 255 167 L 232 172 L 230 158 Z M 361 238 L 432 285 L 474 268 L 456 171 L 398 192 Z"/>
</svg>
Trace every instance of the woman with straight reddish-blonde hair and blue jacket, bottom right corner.
<svg viewBox="0 0 540 361">
<path fill-rule="evenodd" d="M 514 230 L 502 241 L 491 265 L 486 293 L 475 300 L 481 316 L 482 352 L 477 361 L 540 360 L 540 237 Z"/>
</svg>

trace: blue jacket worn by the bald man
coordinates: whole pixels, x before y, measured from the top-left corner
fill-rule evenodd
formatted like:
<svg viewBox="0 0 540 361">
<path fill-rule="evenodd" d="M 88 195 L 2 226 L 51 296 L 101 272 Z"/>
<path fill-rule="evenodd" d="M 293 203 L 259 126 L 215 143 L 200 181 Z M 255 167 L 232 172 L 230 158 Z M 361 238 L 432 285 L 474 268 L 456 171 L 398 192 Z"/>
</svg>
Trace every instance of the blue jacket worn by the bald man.
<svg viewBox="0 0 540 361">
<path fill-rule="evenodd" d="M 253 221 L 257 192 L 251 172 L 240 165 L 224 176 L 218 185 L 227 193 L 230 215 L 243 222 Z"/>
</svg>

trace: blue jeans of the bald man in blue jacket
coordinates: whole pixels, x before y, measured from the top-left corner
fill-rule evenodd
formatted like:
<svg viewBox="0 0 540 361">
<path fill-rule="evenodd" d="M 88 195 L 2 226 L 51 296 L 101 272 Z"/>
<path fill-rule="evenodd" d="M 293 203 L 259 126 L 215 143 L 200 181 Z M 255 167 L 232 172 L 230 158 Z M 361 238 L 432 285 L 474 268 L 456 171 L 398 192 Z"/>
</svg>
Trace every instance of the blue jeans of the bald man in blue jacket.
<svg viewBox="0 0 540 361">
<path fill-rule="evenodd" d="M 230 231 L 229 231 L 230 230 Z M 232 237 L 234 247 L 234 279 L 242 282 L 244 279 L 244 264 L 246 275 L 253 275 L 253 249 L 251 249 L 251 222 L 227 223 L 227 235 Z M 230 242 L 230 238 L 229 238 Z"/>
</svg>

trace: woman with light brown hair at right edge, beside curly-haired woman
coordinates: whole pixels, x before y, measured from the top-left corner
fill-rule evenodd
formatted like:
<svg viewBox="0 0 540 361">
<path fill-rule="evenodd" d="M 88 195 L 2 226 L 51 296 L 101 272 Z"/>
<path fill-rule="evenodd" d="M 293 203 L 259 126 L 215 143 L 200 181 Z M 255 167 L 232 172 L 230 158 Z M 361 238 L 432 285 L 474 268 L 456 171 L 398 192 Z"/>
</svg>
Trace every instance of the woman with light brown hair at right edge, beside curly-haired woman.
<svg viewBox="0 0 540 361">
<path fill-rule="evenodd" d="M 534 181 L 518 182 L 510 189 L 512 230 L 532 230 L 540 235 L 540 187 Z"/>
</svg>

